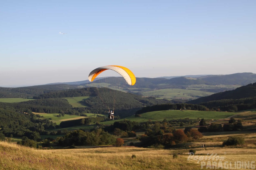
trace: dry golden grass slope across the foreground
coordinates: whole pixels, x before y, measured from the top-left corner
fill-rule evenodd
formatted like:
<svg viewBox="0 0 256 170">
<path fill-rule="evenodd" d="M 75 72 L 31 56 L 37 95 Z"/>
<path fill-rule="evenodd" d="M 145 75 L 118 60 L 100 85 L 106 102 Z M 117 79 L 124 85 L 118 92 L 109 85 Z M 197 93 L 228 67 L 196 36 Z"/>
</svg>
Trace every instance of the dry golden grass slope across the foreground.
<svg viewBox="0 0 256 170">
<path fill-rule="evenodd" d="M 187 150 L 137 147 L 38 150 L 0 142 L 0 170 L 201 169 L 200 162 L 188 160 Z M 208 147 L 196 150 L 198 156 L 213 153 L 231 162 L 255 161 L 256 157 L 255 148 Z M 174 159 L 173 153 L 180 154 Z M 132 155 L 136 157 L 132 158 Z"/>
</svg>

